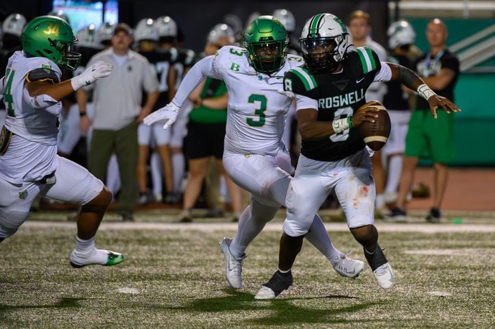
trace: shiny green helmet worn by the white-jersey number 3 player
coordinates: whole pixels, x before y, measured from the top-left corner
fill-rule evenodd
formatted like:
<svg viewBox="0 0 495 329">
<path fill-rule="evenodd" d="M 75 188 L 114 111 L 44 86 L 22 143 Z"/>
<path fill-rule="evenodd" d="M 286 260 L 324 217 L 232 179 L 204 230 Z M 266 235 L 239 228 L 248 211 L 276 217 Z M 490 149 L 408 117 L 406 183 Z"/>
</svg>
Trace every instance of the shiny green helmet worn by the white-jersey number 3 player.
<svg viewBox="0 0 495 329">
<path fill-rule="evenodd" d="M 284 25 L 273 16 L 259 16 L 244 33 L 249 62 L 261 73 L 271 74 L 282 68 L 288 45 L 289 36 Z"/>
</svg>

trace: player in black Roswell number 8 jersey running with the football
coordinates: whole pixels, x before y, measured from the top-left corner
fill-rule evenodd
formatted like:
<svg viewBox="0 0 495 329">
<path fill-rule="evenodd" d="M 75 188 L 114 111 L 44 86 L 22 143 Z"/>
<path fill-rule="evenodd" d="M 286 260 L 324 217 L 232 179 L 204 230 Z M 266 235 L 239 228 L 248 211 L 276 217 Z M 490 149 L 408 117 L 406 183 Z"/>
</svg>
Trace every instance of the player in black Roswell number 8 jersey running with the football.
<svg viewBox="0 0 495 329">
<path fill-rule="evenodd" d="M 394 271 L 378 245 L 373 225 L 375 187 L 370 152 L 354 129 L 378 117 L 373 103 L 365 105 L 365 91 L 375 81 L 400 80 L 428 100 L 433 117 L 437 117 L 438 107 L 446 112 L 459 110 L 404 66 L 380 62 L 367 47 L 348 52 L 348 38 L 346 25 L 337 16 L 316 14 L 306 22 L 300 38 L 306 64 L 285 74 L 284 93 L 296 100 L 302 150 L 286 197 L 278 271 L 263 284 L 256 299 L 274 298 L 292 284 L 291 267 L 310 219 L 334 188 L 378 286 L 389 289 Z"/>
</svg>

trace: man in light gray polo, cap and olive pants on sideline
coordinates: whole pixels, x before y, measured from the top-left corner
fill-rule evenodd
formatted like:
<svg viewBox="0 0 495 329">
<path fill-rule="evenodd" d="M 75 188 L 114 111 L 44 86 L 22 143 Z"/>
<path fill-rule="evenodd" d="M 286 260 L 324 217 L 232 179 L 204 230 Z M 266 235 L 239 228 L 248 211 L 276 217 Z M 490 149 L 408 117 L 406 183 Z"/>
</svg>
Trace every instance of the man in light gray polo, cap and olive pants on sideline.
<svg viewBox="0 0 495 329">
<path fill-rule="evenodd" d="M 87 90 L 80 89 L 82 130 L 93 127 L 88 167 L 97 178 L 104 180 L 108 160 L 117 155 L 121 178 L 117 212 L 124 221 L 132 221 L 136 202 L 136 164 L 138 159 L 137 127 L 149 114 L 158 99 L 158 80 L 146 58 L 130 50 L 132 32 L 125 23 L 114 29 L 112 47 L 97 53 L 88 66 L 97 60 L 111 63 L 114 71 L 101 83 L 92 84 L 95 117 L 86 115 Z M 147 94 L 144 106 L 143 90 Z"/>
</svg>

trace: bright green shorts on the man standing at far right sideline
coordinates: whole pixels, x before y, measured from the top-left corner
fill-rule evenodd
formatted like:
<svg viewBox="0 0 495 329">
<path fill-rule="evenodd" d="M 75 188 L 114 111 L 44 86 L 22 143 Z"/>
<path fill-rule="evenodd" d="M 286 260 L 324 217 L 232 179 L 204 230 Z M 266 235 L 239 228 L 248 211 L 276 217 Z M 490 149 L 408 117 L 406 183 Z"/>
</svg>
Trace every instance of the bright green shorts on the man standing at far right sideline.
<svg viewBox="0 0 495 329">
<path fill-rule="evenodd" d="M 406 156 L 431 158 L 433 162 L 448 163 L 454 158 L 454 116 L 437 110 L 437 119 L 431 111 L 415 110 L 409 121 L 406 137 Z"/>
</svg>

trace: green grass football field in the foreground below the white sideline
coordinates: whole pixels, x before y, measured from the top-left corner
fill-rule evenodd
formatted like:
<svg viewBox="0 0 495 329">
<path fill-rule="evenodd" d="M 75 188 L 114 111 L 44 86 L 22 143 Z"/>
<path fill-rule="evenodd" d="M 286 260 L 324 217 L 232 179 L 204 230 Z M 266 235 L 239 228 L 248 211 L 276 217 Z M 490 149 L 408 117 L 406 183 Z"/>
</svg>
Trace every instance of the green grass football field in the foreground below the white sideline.
<svg viewBox="0 0 495 329">
<path fill-rule="evenodd" d="M 432 234 L 413 226 L 391 232 L 378 223 L 380 243 L 396 271 L 389 291 L 376 286 L 369 267 L 357 280 L 338 276 L 304 243 L 293 287 L 272 301 L 256 301 L 254 294 L 276 269 L 278 226 L 247 250 L 245 287 L 235 291 L 227 288 L 218 247 L 234 226 L 165 230 L 109 223 L 97 246 L 122 252 L 125 262 L 73 269 L 68 257 L 75 224 L 34 224 L 0 244 L 0 328 L 495 326 L 494 224 L 487 224 L 490 230 Z M 331 234 L 335 245 L 363 260 L 343 224 L 338 231 Z"/>
</svg>

